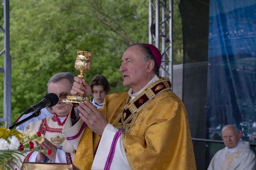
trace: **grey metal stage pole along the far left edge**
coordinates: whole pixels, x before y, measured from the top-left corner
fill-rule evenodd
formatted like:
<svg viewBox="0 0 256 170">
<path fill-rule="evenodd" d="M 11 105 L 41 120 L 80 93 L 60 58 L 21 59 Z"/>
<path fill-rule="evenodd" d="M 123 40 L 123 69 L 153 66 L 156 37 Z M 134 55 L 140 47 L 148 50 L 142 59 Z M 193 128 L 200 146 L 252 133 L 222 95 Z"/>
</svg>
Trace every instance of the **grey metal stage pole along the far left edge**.
<svg viewBox="0 0 256 170">
<path fill-rule="evenodd" d="M 11 125 L 11 97 L 12 97 L 12 69 L 10 57 L 10 18 L 9 18 L 10 3 L 9 0 L 3 0 L 3 27 L 0 26 L 4 33 L 4 48 L 0 52 L 3 55 L 4 67 L 0 67 L 0 73 L 3 73 L 3 118 L 0 122 L 7 121 L 7 126 Z"/>
</svg>

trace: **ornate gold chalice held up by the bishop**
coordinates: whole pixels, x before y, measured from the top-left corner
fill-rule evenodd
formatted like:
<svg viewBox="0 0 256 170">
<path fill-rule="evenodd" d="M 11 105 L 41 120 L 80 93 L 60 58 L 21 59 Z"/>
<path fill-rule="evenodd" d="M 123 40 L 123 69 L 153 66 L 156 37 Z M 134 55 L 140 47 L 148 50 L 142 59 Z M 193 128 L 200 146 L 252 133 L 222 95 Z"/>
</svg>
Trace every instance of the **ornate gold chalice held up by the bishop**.
<svg viewBox="0 0 256 170">
<path fill-rule="evenodd" d="M 83 80 L 85 78 L 84 72 L 87 72 L 91 69 L 91 58 L 93 57 L 93 53 L 88 51 L 76 51 L 76 53 L 77 57 L 75 60 L 75 69 L 80 71 L 80 74 L 77 76 L 79 79 Z M 88 102 L 91 101 L 89 98 L 80 93 L 68 94 L 67 99 L 62 100 L 61 103 L 78 106 L 80 102 L 84 102 L 85 100 Z"/>
</svg>

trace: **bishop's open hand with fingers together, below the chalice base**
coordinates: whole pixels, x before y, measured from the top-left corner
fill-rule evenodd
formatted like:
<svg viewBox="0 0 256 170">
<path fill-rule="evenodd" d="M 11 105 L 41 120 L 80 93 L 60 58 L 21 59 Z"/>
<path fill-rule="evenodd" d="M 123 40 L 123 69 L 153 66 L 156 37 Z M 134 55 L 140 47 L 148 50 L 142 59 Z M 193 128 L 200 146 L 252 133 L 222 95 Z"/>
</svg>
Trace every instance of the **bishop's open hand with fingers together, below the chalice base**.
<svg viewBox="0 0 256 170">
<path fill-rule="evenodd" d="M 85 121 L 89 128 L 95 133 L 102 135 L 106 125 L 109 123 L 100 111 L 88 101 L 80 103 L 77 107 L 79 116 Z"/>
</svg>

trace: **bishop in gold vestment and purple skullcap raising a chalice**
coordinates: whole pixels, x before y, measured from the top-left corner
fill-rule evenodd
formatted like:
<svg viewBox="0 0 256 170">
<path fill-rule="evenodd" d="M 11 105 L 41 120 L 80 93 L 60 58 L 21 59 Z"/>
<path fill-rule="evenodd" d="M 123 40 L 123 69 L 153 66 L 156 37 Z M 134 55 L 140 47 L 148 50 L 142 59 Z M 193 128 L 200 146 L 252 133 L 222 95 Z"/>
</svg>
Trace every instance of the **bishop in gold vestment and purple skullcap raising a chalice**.
<svg viewBox="0 0 256 170">
<path fill-rule="evenodd" d="M 75 166 L 196 169 L 185 106 L 169 78 L 158 78 L 160 65 L 155 46 L 133 44 L 119 69 L 130 90 L 106 96 L 99 110 L 88 101 L 79 104 L 81 119 L 72 127 L 68 119 L 62 131 L 76 150 Z M 90 97 L 91 88 L 75 77 L 71 93 L 77 92 Z"/>
</svg>

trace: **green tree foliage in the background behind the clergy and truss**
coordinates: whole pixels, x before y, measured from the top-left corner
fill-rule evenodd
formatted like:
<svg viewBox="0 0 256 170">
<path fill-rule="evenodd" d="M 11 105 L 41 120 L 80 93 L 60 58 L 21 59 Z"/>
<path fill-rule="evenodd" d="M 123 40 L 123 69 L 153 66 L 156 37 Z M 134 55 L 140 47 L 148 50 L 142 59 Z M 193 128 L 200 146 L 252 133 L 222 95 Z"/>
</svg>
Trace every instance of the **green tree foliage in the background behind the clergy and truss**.
<svg viewBox="0 0 256 170">
<path fill-rule="evenodd" d="M 174 57 L 182 50 L 177 3 L 174 1 Z M 77 50 L 94 53 L 91 70 L 84 73 L 87 83 L 95 74 L 103 74 L 111 84 L 110 93 L 128 90 L 119 73 L 124 49 L 132 43 L 147 42 L 148 0 L 10 0 L 12 120 L 42 100 L 52 75 L 80 73 L 74 68 Z M 181 58 L 174 58 L 174 64 L 180 64 Z M 0 104 L 0 116 L 2 112 Z"/>
</svg>

